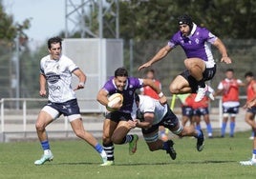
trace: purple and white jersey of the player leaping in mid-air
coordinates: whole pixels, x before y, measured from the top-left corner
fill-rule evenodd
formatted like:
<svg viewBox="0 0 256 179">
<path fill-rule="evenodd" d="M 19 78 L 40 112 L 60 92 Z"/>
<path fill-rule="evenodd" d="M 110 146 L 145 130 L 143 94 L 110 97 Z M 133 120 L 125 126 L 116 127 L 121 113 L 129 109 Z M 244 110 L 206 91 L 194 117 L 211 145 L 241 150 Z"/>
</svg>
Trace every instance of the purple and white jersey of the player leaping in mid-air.
<svg viewBox="0 0 256 179">
<path fill-rule="evenodd" d="M 218 37 L 206 28 L 201 28 L 196 24 L 193 24 L 189 36 L 182 36 L 181 30 L 179 30 L 172 36 L 168 42 L 168 46 L 176 48 L 180 45 L 187 58 L 201 58 L 205 62 L 206 68 L 212 68 L 215 65 L 215 62 L 211 52 L 211 44 L 213 44 L 217 38 Z"/>
</svg>

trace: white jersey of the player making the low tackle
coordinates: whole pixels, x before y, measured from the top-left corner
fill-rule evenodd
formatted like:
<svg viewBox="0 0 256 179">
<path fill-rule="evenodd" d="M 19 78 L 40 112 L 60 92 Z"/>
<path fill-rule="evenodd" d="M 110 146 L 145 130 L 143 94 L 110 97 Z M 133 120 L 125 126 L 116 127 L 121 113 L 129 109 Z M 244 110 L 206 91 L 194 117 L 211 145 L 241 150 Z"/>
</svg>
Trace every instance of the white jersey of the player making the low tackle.
<svg viewBox="0 0 256 179">
<path fill-rule="evenodd" d="M 139 95 L 139 110 L 142 113 L 154 113 L 152 125 L 159 124 L 164 115 L 167 113 L 167 105 L 162 106 L 159 100 L 153 99 L 146 95 Z"/>
</svg>

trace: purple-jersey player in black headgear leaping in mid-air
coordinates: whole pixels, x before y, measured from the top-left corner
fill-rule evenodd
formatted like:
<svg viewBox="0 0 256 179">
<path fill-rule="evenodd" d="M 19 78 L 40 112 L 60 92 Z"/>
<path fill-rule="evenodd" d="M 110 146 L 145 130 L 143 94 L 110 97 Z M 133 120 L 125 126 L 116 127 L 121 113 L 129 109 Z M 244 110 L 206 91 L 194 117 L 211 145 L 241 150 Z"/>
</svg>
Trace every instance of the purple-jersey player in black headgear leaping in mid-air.
<svg viewBox="0 0 256 179">
<path fill-rule="evenodd" d="M 198 27 L 188 15 L 181 15 L 179 18 L 180 30 L 175 33 L 168 44 L 161 48 L 158 53 L 148 62 L 141 65 L 139 70 L 148 68 L 160 61 L 171 50 L 181 46 L 186 54 L 184 65 L 186 70 L 182 71 L 171 83 L 169 89 L 172 94 L 195 93 L 195 101 L 201 101 L 206 94 L 212 100 L 212 93 L 208 91 L 205 81 L 214 77 L 216 65 L 213 59 L 210 45 L 215 46 L 222 54 L 221 62 L 231 63 L 227 56 L 224 43 L 217 36 L 206 28 Z"/>
</svg>

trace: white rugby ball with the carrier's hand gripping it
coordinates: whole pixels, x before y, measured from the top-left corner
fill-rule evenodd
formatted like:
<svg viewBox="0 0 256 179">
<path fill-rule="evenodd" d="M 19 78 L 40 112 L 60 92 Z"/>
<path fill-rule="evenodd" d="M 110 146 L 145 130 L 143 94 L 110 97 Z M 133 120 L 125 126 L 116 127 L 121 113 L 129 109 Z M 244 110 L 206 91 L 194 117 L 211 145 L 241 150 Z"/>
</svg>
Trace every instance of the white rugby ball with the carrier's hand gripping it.
<svg viewBox="0 0 256 179">
<path fill-rule="evenodd" d="M 120 93 L 114 93 L 111 96 L 109 96 L 108 100 L 109 100 L 109 103 L 106 109 L 109 111 L 116 111 L 121 108 L 123 97 Z"/>
</svg>

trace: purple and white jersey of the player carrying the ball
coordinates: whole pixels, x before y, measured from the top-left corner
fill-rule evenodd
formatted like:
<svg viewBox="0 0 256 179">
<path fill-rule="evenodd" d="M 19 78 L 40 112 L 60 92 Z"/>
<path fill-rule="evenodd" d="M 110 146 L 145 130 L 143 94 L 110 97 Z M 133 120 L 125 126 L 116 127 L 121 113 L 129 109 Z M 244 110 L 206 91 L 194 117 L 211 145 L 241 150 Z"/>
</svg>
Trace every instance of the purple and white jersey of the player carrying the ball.
<svg viewBox="0 0 256 179">
<path fill-rule="evenodd" d="M 111 77 L 103 86 L 102 89 L 106 90 L 108 92 L 108 95 L 114 94 L 116 92 L 121 93 L 123 96 L 123 103 L 122 107 L 119 109 L 119 111 L 125 112 L 125 113 L 131 113 L 133 110 L 133 104 L 134 104 L 134 93 L 136 89 L 140 89 L 143 87 L 143 80 L 140 78 L 135 77 L 128 77 L 125 88 L 120 91 L 117 90 L 117 86 L 114 82 L 114 77 Z"/>
</svg>

